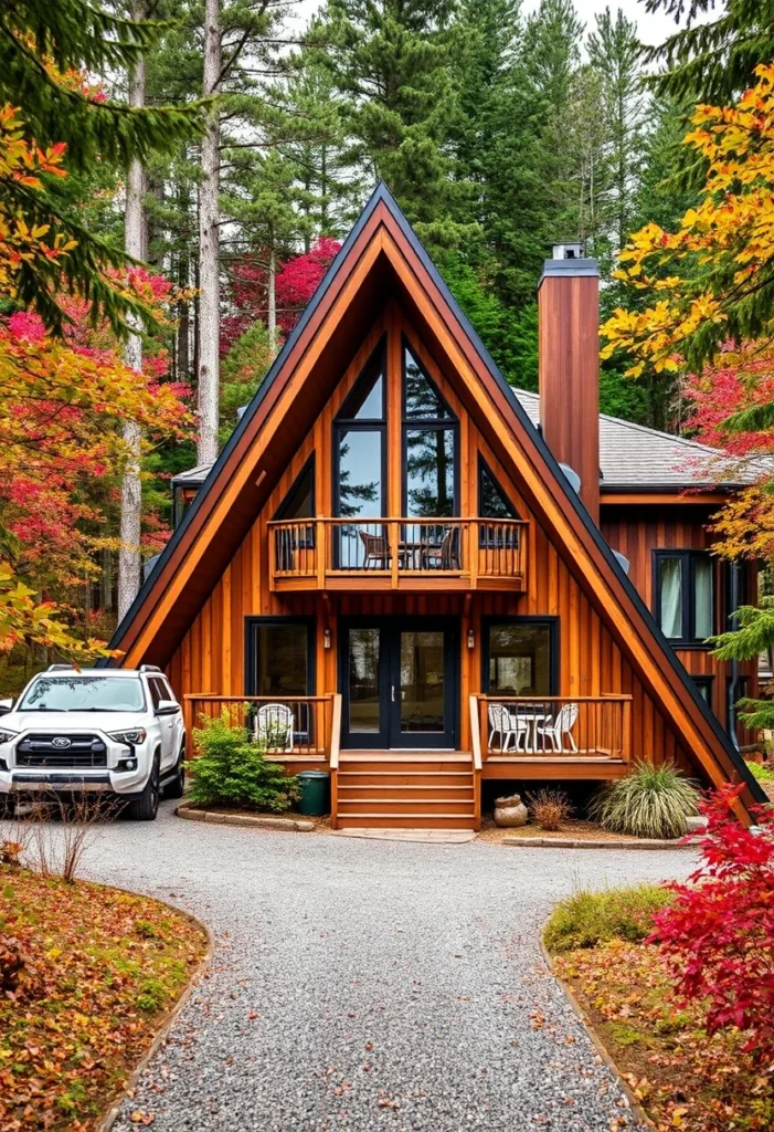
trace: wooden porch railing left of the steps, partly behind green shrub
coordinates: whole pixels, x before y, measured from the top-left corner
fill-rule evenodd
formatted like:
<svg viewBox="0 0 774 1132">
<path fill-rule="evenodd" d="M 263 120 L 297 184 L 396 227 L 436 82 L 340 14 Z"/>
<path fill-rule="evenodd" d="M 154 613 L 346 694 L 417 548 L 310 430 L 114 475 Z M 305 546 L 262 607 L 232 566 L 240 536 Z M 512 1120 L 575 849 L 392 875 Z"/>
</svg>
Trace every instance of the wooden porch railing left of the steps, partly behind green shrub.
<svg viewBox="0 0 774 1132">
<path fill-rule="evenodd" d="M 202 717 L 224 712 L 231 727 L 245 727 L 267 751 L 285 758 L 327 761 L 336 722 L 338 695 L 324 696 L 217 696 L 197 692 L 184 697 L 189 751 L 191 732 Z M 340 709 L 339 709 L 340 717 Z"/>
</svg>

